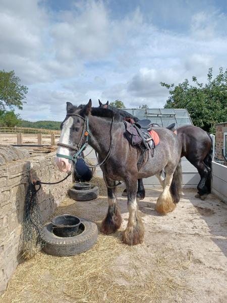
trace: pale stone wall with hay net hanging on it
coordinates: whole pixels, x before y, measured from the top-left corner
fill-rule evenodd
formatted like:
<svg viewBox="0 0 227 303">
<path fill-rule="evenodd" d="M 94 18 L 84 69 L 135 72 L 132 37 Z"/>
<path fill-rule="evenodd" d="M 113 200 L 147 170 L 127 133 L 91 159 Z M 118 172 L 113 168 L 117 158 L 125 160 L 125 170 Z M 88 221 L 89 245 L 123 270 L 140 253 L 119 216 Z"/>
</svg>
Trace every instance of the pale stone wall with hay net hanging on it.
<svg viewBox="0 0 227 303">
<path fill-rule="evenodd" d="M 23 157 L 17 155 L 9 159 L 11 151 L 18 154 L 19 149 L 15 148 L 4 146 L 1 158 L 0 146 L 0 292 L 6 289 L 19 263 L 21 224 L 29 176 L 43 182 L 59 181 L 66 176 L 55 166 L 55 153 L 30 157 L 26 150 L 21 150 Z M 43 220 L 47 220 L 61 203 L 71 183 L 72 178 L 69 177 L 60 184 L 42 185 L 38 200 Z"/>
</svg>

